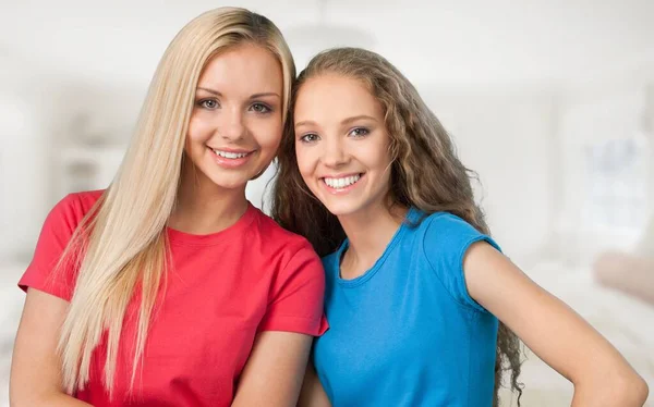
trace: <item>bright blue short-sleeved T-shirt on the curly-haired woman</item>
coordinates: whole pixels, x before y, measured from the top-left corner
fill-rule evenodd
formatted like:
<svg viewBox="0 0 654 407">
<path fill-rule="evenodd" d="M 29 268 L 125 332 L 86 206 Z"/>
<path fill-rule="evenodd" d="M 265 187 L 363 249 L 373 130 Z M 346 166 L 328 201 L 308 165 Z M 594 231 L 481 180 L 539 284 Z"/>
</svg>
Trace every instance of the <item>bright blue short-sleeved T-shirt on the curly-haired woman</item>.
<svg viewBox="0 0 654 407">
<path fill-rule="evenodd" d="M 411 209 L 376 263 L 340 278 L 323 259 L 330 329 L 314 365 L 334 407 L 491 406 L 497 319 L 465 287 L 463 255 L 488 236 L 451 213 Z"/>
</svg>

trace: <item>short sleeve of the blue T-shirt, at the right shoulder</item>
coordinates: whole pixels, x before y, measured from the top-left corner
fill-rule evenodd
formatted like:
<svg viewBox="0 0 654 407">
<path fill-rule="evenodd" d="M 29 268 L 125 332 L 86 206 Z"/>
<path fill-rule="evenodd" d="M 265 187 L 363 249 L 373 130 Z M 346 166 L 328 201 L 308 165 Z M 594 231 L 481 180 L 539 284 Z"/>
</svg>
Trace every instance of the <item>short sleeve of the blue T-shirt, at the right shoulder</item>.
<svg viewBox="0 0 654 407">
<path fill-rule="evenodd" d="M 468 292 L 463 273 L 463 257 L 475 242 L 485 240 L 498 251 L 501 251 L 500 247 L 493 238 L 479 232 L 470 223 L 455 214 L 435 213 L 425 222 L 427 224 L 423 249 L 427 262 L 438 280 L 457 303 L 486 312 L 486 309 Z"/>
</svg>

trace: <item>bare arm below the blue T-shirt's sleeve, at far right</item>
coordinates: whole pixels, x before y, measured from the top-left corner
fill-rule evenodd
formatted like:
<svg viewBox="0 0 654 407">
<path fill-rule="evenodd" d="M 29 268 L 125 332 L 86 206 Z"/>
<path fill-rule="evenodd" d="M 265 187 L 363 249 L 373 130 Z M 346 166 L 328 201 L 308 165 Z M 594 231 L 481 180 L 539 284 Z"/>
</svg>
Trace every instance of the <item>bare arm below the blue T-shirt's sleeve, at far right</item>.
<svg viewBox="0 0 654 407">
<path fill-rule="evenodd" d="M 470 295 L 574 384 L 572 406 L 642 406 L 647 384 L 579 314 L 485 242 L 468 250 Z"/>
</svg>

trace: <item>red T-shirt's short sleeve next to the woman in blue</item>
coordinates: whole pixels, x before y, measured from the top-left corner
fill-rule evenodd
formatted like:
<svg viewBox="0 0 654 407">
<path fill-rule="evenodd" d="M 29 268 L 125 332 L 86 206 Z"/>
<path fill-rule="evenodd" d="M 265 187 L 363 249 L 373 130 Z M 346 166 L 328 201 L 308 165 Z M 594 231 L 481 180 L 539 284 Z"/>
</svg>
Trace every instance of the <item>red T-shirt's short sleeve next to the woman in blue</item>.
<svg viewBox="0 0 654 407">
<path fill-rule="evenodd" d="M 324 314 L 325 272 L 320 259 L 304 244 L 272 281 L 268 308 L 258 330 L 320 336 L 327 331 Z"/>
</svg>

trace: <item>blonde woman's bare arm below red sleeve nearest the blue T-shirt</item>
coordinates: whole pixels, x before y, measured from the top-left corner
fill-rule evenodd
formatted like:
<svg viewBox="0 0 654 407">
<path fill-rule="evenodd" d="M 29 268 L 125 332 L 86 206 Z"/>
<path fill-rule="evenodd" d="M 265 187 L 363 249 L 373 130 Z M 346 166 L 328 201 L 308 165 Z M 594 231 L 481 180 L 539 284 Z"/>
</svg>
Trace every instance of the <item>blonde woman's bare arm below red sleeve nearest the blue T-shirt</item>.
<svg viewBox="0 0 654 407">
<path fill-rule="evenodd" d="M 312 341 L 310 335 L 292 332 L 259 333 L 232 407 L 295 406 Z"/>
</svg>

